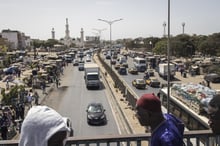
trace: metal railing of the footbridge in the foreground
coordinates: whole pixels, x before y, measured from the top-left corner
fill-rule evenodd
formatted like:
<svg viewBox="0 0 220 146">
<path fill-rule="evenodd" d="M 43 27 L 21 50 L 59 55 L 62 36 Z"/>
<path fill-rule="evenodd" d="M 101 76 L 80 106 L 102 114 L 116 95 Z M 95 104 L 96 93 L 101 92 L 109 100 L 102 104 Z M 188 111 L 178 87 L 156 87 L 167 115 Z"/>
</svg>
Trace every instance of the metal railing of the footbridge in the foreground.
<svg viewBox="0 0 220 146">
<path fill-rule="evenodd" d="M 66 146 L 148 146 L 150 138 L 150 133 L 69 137 Z M 18 142 L 18 140 L 2 140 L 0 146 L 18 146 Z M 186 146 L 219 146 L 220 135 L 213 135 L 210 130 L 185 131 L 184 142 Z"/>
</svg>

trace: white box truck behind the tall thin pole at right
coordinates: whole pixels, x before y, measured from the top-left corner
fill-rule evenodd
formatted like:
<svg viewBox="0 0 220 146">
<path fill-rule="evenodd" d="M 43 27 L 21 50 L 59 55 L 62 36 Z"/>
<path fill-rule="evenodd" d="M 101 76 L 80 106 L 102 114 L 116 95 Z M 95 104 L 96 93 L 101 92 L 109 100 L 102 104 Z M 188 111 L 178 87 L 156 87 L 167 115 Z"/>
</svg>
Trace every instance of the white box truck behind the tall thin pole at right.
<svg viewBox="0 0 220 146">
<path fill-rule="evenodd" d="M 175 65 L 170 63 L 170 79 L 173 79 L 175 76 Z M 163 79 L 167 79 L 168 76 L 168 64 L 161 63 L 159 64 L 159 76 Z"/>
</svg>

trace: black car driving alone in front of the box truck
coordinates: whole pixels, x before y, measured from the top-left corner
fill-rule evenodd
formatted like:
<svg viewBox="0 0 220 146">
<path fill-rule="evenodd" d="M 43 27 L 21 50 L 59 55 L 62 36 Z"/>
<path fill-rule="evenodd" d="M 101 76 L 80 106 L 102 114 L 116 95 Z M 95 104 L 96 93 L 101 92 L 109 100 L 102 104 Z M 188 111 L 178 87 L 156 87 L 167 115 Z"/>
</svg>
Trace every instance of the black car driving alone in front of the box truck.
<svg viewBox="0 0 220 146">
<path fill-rule="evenodd" d="M 106 124 L 107 118 L 102 103 L 90 103 L 86 109 L 89 125 Z"/>
</svg>

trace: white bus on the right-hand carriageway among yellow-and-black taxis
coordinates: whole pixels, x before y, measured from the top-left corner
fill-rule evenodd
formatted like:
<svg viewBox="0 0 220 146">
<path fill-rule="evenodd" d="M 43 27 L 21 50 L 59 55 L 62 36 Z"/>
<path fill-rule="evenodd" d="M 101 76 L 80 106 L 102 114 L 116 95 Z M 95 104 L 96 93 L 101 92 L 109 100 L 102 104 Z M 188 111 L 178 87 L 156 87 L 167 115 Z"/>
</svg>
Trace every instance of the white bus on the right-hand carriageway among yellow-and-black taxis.
<svg viewBox="0 0 220 146">
<path fill-rule="evenodd" d="M 144 72 L 147 69 L 147 61 L 145 58 L 135 57 L 134 67 L 137 68 L 139 72 Z"/>
</svg>

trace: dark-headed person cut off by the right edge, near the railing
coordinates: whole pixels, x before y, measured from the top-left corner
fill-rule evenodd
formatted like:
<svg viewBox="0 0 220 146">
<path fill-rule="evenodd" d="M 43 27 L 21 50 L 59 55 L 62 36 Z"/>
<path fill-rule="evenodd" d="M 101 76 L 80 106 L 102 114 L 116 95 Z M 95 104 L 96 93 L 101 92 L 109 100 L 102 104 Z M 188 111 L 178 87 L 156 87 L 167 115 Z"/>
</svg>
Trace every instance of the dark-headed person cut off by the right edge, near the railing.
<svg viewBox="0 0 220 146">
<path fill-rule="evenodd" d="M 209 125 L 214 134 L 220 134 L 220 95 L 214 95 L 208 104 Z"/>
</svg>

